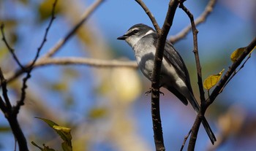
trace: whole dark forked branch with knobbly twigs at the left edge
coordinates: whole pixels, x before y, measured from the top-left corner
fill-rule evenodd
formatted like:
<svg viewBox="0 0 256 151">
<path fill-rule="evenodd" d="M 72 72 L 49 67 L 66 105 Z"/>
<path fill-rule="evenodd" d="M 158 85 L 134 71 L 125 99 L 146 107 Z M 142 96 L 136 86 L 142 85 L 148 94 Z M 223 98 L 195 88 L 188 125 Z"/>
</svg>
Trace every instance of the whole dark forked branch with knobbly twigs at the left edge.
<svg viewBox="0 0 256 151">
<path fill-rule="evenodd" d="M 14 50 L 12 50 L 12 48 L 10 47 L 10 44 L 8 44 L 6 39 L 3 38 L 3 41 L 7 45 L 8 50 L 10 50 L 10 53 L 12 53 L 13 58 L 19 64 L 21 71 L 27 73 L 26 77 L 24 77 L 24 79 L 23 79 L 23 86 L 21 88 L 20 101 L 18 101 L 17 104 L 14 107 L 12 107 L 12 104 L 10 104 L 10 100 L 7 95 L 7 80 L 4 79 L 4 74 L 2 73 L 2 71 L 0 69 L 1 88 L 3 91 L 3 96 L 4 96 L 4 101 L 5 101 L 5 104 L 4 104 L 4 101 L 0 97 L 0 108 L 1 108 L 2 112 L 4 112 L 4 116 L 7 118 L 8 122 L 10 124 L 12 133 L 15 137 L 15 140 L 18 142 L 19 150 L 27 151 L 27 150 L 29 150 L 29 148 L 26 143 L 26 137 L 24 136 L 23 131 L 21 130 L 20 125 L 18 123 L 18 119 L 17 119 L 18 112 L 20 110 L 20 107 L 24 104 L 24 100 L 26 98 L 26 88 L 27 88 L 26 82 L 31 77 L 31 71 L 33 69 L 34 63 L 37 61 L 37 58 L 39 58 L 40 50 L 42 50 L 42 47 L 46 42 L 46 37 L 48 35 L 49 28 L 55 18 L 54 12 L 55 12 L 55 8 L 56 8 L 56 3 L 57 3 L 57 0 L 55 0 L 53 3 L 52 18 L 50 19 L 50 23 L 49 23 L 48 27 L 46 28 L 45 36 L 42 40 L 42 44 L 37 49 L 37 54 L 35 55 L 35 58 L 31 62 L 31 65 L 28 66 L 28 68 L 26 68 L 26 70 L 23 69 L 23 66 L 18 61 L 18 58 L 16 57 Z M 4 37 L 4 26 L 3 25 L 1 26 L 1 34 Z"/>
</svg>

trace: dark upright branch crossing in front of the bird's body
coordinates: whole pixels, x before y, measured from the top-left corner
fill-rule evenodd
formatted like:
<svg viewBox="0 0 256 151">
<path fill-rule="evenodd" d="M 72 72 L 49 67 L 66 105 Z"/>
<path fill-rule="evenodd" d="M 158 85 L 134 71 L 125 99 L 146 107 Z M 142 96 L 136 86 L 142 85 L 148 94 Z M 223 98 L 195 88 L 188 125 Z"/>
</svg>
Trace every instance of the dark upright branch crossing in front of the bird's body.
<svg viewBox="0 0 256 151">
<path fill-rule="evenodd" d="M 178 0 L 171 0 L 169 3 L 167 15 L 165 17 L 165 23 L 159 31 L 157 39 L 157 50 L 154 57 L 154 69 L 152 73 L 151 83 L 151 114 L 154 130 L 154 142 L 156 150 L 165 150 L 164 140 L 162 136 L 162 123 L 159 109 L 159 75 L 162 66 L 162 57 L 165 50 L 165 42 L 167 34 L 170 31 L 170 26 L 173 24 L 173 18 L 178 7 Z"/>
</svg>

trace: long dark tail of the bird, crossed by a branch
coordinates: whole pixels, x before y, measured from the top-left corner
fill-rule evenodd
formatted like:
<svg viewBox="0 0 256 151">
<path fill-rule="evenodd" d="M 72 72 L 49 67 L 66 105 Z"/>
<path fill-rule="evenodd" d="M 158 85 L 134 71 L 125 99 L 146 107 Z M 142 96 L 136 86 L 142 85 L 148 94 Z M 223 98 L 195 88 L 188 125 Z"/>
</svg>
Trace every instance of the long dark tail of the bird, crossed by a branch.
<svg viewBox="0 0 256 151">
<path fill-rule="evenodd" d="M 199 104 L 197 103 L 195 96 L 191 94 L 191 99 L 189 99 L 190 104 L 195 109 L 195 112 L 199 112 Z M 203 116 L 202 119 L 203 127 L 206 129 L 206 133 L 208 134 L 208 137 L 211 140 L 211 143 L 214 144 L 214 142 L 217 141 L 216 137 L 214 136 L 214 132 L 211 130 L 210 125 L 208 124 L 206 117 Z"/>
</svg>

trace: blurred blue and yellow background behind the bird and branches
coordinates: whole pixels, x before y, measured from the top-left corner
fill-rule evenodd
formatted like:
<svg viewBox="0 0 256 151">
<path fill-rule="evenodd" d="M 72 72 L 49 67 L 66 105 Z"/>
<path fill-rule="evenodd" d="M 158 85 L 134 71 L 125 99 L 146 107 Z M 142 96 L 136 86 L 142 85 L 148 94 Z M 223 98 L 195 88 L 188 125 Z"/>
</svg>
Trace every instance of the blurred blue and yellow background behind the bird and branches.
<svg viewBox="0 0 256 151">
<path fill-rule="evenodd" d="M 58 1 L 56 20 L 41 55 L 78 23 L 91 0 Z M 157 19 L 165 20 L 168 1 L 144 1 Z M 197 18 L 208 1 L 186 1 L 185 6 Z M 7 39 L 23 64 L 34 58 L 50 20 L 53 0 L 0 0 L 0 22 Z M 132 49 L 116 38 L 130 26 L 145 23 L 152 26 L 135 1 L 103 2 L 64 47 L 53 57 L 75 56 L 104 60 L 135 61 Z M 189 25 L 189 18 L 177 9 L 168 38 Z M 197 27 L 203 79 L 227 71 L 230 54 L 245 47 L 256 35 L 255 0 L 217 1 L 206 22 Z M 189 69 L 192 88 L 199 98 L 192 34 L 174 44 Z M 0 42 L 1 69 L 6 78 L 18 69 L 4 42 Z M 256 57 L 245 64 L 225 90 L 208 108 L 206 118 L 218 142 L 212 146 L 203 127 L 198 134 L 196 150 L 255 150 L 256 144 Z M 12 103 L 20 97 L 22 77 L 9 83 Z M 144 93 L 151 82 L 134 68 L 95 68 L 86 65 L 42 66 L 32 71 L 28 82 L 26 104 L 18 120 L 26 135 L 29 149 L 37 150 L 31 141 L 61 150 L 59 136 L 41 120 L 43 117 L 72 128 L 74 150 L 129 151 L 155 150 L 151 122 L 151 97 Z M 190 104 L 186 107 L 164 88 L 161 96 L 162 128 L 166 150 L 180 150 L 184 136 L 195 120 Z M 207 95 L 207 92 L 206 92 Z M 188 144 L 188 143 L 187 143 Z M 187 147 L 185 145 L 185 150 Z M 14 150 L 15 139 L 9 124 L 0 114 L 0 150 Z"/>
</svg>

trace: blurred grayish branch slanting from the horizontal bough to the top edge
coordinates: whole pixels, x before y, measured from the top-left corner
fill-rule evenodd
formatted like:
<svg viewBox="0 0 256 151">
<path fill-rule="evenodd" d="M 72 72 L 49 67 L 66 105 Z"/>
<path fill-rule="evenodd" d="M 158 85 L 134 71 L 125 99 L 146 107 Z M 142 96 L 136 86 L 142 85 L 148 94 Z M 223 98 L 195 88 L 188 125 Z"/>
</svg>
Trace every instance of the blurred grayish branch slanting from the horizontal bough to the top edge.
<svg viewBox="0 0 256 151">
<path fill-rule="evenodd" d="M 99 4 L 102 4 L 102 2 L 105 0 L 97 0 L 94 2 L 94 4 L 91 4 L 91 6 L 86 9 L 86 11 L 83 13 L 81 20 L 68 32 L 67 36 L 65 36 L 63 39 L 60 39 L 59 42 L 57 42 L 49 51 L 46 53 L 42 58 L 49 58 L 53 56 L 57 51 L 64 46 L 64 44 L 67 43 L 67 41 L 75 34 L 76 31 L 78 31 L 78 28 L 83 25 L 83 23 L 86 22 L 86 20 L 90 17 L 92 12 L 94 12 L 97 7 L 99 7 Z"/>
</svg>

